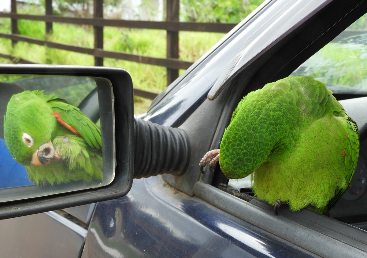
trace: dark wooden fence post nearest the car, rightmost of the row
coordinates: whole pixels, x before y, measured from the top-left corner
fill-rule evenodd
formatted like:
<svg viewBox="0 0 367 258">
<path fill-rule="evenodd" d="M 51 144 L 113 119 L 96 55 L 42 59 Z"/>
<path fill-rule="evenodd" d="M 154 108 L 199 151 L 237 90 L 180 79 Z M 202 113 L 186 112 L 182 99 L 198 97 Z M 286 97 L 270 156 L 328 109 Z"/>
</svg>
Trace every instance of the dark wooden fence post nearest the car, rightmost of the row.
<svg viewBox="0 0 367 258">
<path fill-rule="evenodd" d="M 179 0 L 166 1 L 166 21 L 179 21 Z M 179 58 L 178 31 L 167 31 L 167 58 Z M 178 77 L 178 69 L 167 68 L 167 86 Z"/>
</svg>

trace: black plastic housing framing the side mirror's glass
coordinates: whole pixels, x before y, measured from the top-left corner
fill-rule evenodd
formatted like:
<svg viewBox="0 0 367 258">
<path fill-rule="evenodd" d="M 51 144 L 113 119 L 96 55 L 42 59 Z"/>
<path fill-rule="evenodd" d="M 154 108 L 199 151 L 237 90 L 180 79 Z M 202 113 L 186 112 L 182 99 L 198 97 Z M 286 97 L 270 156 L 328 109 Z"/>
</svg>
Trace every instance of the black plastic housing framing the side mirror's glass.
<svg viewBox="0 0 367 258">
<path fill-rule="evenodd" d="M 112 132 L 115 134 L 115 137 L 110 137 L 110 139 L 114 139 L 115 142 L 110 145 L 114 145 L 115 148 L 113 151 L 113 146 L 107 146 L 110 151 L 106 153 L 108 154 L 108 163 L 115 166 L 115 173 L 111 182 L 101 187 L 90 187 L 88 189 L 65 191 L 41 197 L 4 201 L 0 203 L 0 219 L 110 200 L 122 197 L 128 193 L 133 179 L 134 110 L 132 80 L 126 70 L 109 67 L 15 64 L 0 65 L 0 76 L 2 74 L 76 76 L 76 78 L 84 76 L 94 78 L 96 82 L 99 79 L 108 80 L 110 85 L 112 85 L 113 98 L 110 101 L 106 101 L 109 103 L 99 101 L 99 107 L 103 109 L 104 105 L 112 104 L 113 106 L 113 116 L 110 116 L 110 119 L 107 119 L 105 124 L 114 129 Z M 95 98 L 92 94 L 87 97 L 90 100 Z M 113 103 L 111 103 L 112 101 Z M 87 103 L 80 103 L 80 105 L 87 105 Z M 103 116 L 103 113 L 100 112 L 100 115 Z M 111 157 L 113 154 L 115 157 Z M 105 154 L 103 154 L 103 162 L 105 162 Z M 16 189 L 17 187 L 14 187 L 14 193 L 17 191 Z M 11 190 L 7 191 L 7 193 L 11 193 Z"/>
</svg>

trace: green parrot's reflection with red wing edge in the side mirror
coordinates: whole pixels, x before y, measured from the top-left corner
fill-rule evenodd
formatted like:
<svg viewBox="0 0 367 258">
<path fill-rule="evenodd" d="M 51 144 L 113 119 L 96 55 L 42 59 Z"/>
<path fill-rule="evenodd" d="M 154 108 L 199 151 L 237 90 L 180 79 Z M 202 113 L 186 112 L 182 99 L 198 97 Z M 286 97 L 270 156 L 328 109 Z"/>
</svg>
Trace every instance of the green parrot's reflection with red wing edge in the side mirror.
<svg viewBox="0 0 367 258">
<path fill-rule="evenodd" d="M 4 139 L 38 186 L 103 179 L 101 130 L 56 96 L 37 90 L 14 94 L 4 119 Z"/>
</svg>

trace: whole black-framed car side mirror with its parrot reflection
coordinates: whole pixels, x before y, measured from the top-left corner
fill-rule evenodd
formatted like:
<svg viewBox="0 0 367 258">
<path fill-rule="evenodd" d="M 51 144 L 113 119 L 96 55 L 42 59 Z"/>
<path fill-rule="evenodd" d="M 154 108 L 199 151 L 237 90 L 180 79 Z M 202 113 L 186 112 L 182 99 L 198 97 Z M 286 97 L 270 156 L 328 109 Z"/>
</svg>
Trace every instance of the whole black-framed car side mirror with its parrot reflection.
<svg viewBox="0 0 367 258">
<path fill-rule="evenodd" d="M 0 100 L 0 219 L 128 193 L 134 116 L 127 71 L 0 65 Z"/>
</svg>

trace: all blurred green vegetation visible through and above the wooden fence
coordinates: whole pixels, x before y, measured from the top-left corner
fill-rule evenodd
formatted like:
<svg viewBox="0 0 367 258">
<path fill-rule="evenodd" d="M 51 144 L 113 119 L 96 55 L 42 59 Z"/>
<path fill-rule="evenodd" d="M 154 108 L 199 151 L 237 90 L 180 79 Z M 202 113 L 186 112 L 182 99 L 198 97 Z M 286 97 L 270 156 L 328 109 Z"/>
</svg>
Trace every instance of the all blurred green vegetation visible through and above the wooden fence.
<svg viewBox="0 0 367 258">
<path fill-rule="evenodd" d="M 18 5 L 19 14 L 44 15 L 44 1 L 33 0 L 33 4 Z M 139 13 L 144 13 L 146 20 L 165 20 L 166 0 L 141 0 Z M 183 22 L 222 22 L 238 23 L 264 0 L 181 0 L 180 21 Z M 29 2 L 32 2 L 29 1 Z M 153 6 L 160 2 L 161 9 Z M 104 0 L 104 18 L 123 18 L 126 0 Z M 91 17 L 93 0 L 53 0 L 54 15 Z M 134 19 L 142 19 L 138 14 Z M 19 34 L 38 39 L 45 39 L 45 23 L 41 21 L 18 20 Z M 11 33 L 9 18 L 0 18 L 0 33 Z M 224 33 L 179 32 L 179 58 L 195 62 L 201 55 L 217 43 Z M 93 48 L 93 27 L 87 25 L 68 25 L 53 23 L 53 34 L 46 35 L 48 41 Z M 104 49 L 126 53 L 166 57 L 166 31 L 153 29 L 128 29 L 105 27 Z M 71 51 L 51 49 L 46 46 L 18 42 L 14 47 L 11 40 L 0 38 L 0 53 L 23 58 L 39 64 L 94 65 L 91 55 Z M 0 58 L 2 63 L 10 60 Z M 165 67 L 139 64 L 131 61 L 104 58 L 104 66 L 121 67 L 132 76 L 134 87 L 160 93 L 167 87 Z M 180 71 L 182 74 L 183 70 Z M 151 100 L 134 97 L 135 113 L 143 113 Z"/>
</svg>

